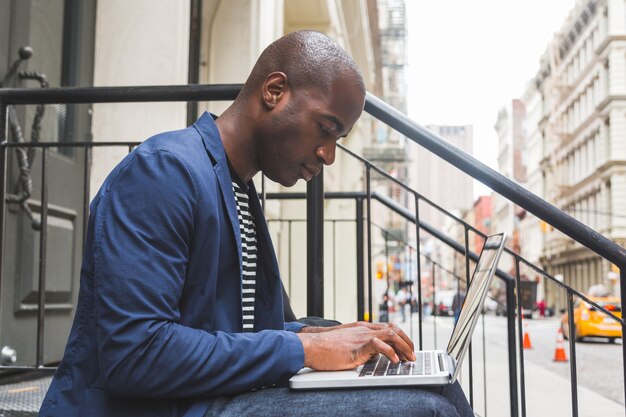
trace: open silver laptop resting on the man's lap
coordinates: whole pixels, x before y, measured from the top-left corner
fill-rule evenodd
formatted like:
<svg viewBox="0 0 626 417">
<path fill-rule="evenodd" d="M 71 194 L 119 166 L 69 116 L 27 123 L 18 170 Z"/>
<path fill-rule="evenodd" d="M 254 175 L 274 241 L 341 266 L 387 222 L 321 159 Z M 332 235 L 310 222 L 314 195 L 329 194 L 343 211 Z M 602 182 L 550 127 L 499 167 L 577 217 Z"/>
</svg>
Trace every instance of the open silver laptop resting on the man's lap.
<svg viewBox="0 0 626 417">
<path fill-rule="evenodd" d="M 487 237 L 454 326 L 448 347 L 416 351 L 416 360 L 394 364 L 383 355 L 347 371 L 315 371 L 303 368 L 289 380 L 292 389 L 325 389 L 408 385 L 445 385 L 456 381 L 469 349 L 478 317 L 485 304 L 491 279 L 504 249 L 505 233 Z"/>
</svg>

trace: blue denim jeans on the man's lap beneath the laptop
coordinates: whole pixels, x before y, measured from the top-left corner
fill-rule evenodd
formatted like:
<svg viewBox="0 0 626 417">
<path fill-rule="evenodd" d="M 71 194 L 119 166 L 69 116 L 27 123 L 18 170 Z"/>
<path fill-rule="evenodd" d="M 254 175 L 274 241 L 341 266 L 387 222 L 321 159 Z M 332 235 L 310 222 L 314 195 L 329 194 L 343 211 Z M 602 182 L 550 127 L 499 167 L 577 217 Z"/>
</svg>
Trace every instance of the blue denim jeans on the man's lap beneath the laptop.
<svg viewBox="0 0 626 417">
<path fill-rule="evenodd" d="M 209 401 L 206 416 L 473 417 L 458 382 L 428 388 L 269 388 Z"/>
</svg>

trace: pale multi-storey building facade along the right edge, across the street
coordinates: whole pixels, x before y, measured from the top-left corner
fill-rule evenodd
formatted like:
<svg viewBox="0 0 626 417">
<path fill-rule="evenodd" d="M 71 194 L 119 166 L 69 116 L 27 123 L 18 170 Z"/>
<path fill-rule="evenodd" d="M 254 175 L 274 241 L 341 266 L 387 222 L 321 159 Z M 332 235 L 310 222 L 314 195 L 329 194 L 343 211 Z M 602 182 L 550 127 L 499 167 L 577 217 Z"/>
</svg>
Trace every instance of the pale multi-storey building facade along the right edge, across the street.
<svg viewBox="0 0 626 417">
<path fill-rule="evenodd" d="M 542 103 L 529 161 L 536 192 L 620 245 L 626 243 L 625 13 L 623 0 L 579 1 L 542 56 L 537 92 L 527 96 L 534 107 L 536 94 Z M 549 225 L 539 223 L 539 230 L 548 272 L 581 292 L 594 284 L 619 286 L 608 261 Z M 546 286 L 546 296 L 549 305 L 564 305 L 555 286 Z"/>
</svg>

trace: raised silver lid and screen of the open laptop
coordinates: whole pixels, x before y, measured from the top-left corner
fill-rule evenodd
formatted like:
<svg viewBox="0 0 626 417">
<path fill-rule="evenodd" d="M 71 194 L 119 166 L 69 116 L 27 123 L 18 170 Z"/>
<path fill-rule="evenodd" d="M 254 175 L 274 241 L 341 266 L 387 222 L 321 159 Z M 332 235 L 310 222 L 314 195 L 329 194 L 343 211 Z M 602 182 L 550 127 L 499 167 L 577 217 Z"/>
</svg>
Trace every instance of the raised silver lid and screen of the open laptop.
<svg viewBox="0 0 626 417">
<path fill-rule="evenodd" d="M 489 236 L 478 258 L 478 264 L 463 301 L 459 319 L 448 343 L 447 351 L 456 360 L 455 377 L 461 368 L 461 360 L 463 360 L 472 340 L 472 333 L 485 303 L 489 284 L 498 266 L 505 240 L 506 235 L 504 233 Z"/>
</svg>

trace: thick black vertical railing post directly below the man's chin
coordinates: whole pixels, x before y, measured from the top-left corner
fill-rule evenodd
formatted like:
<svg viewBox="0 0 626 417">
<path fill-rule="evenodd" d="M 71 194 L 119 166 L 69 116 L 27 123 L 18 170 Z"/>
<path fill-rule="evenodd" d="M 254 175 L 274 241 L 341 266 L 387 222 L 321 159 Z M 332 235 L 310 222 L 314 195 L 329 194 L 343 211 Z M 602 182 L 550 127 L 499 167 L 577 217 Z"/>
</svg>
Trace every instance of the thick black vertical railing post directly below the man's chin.
<svg viewBox="0 0 626 417">
<path fill-rule="evenodd" d="M 324 317 L 324 170 L 306 185 L 307 315 Z"/>
</svg>

